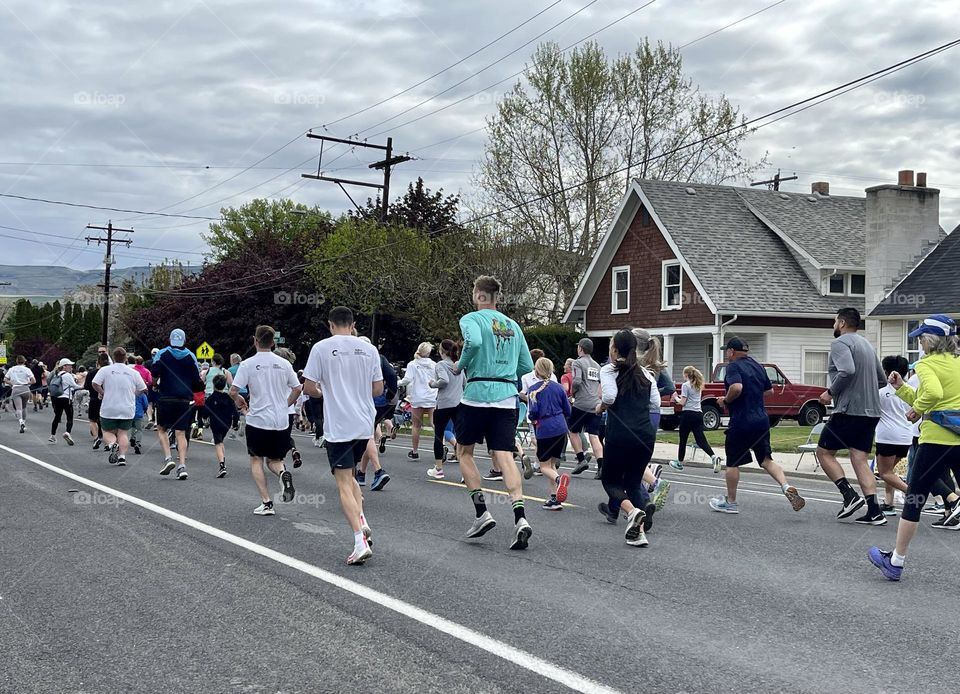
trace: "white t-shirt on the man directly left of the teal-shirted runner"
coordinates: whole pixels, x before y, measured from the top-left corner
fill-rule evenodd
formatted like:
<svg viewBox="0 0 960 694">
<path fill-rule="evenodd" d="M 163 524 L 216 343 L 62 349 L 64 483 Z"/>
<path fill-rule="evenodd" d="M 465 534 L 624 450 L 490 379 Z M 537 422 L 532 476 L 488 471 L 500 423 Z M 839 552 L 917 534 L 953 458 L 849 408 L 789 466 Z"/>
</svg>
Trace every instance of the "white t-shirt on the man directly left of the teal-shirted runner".
<svg viewBox="0 0 960 694">
<path fill-rule="evenodd" d="M 377 348 L 352 335 L 333 335 L 310 350 L 304 378 L 323 393 L 327 441 L 363 441 L 373 436 L 377 410 L 372 386 L 383 380 Z"/>
</svg>

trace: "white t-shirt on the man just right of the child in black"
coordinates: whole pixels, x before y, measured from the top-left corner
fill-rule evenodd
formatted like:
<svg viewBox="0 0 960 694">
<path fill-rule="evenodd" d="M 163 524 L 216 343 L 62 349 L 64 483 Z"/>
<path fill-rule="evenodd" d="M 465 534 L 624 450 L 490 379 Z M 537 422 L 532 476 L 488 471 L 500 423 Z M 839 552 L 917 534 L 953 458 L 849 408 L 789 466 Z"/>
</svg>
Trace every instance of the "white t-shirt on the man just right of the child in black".
<svg viewBox="0 0 960 694">
<path fill-rule="evenodd" d="M 290 362 L 273 352 L 258 351 L 240 362 L 233 385 L 250 391 L 247 426 L 280 431 L 290 424 L 287 400 L 290 391 L 300 385 Z"/>
</svg>

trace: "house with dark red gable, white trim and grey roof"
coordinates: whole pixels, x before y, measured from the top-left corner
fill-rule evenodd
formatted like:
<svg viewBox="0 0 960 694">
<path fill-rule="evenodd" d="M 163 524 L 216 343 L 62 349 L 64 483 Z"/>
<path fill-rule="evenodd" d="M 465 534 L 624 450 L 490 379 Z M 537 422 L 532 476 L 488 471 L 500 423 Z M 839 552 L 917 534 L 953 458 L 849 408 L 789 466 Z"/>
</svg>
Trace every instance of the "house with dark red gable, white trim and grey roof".
<svg viewBox="0 0 960 694">
<path fill-rule="evenodd" d="M 564 322 L 597 338 L 647 328 L 676 379 L 688 364 L 710 373 L 736 334 L 790 380 L 826 386 L 837 311 L 867 315 L 903 266 L 935 247 L 939 226 L 932 236 L 917 227 L 937 195 L 912 185 L 861 198 L 830 195 L 821 182 L 801 194 L 633 181 Z M 897 347 L 906 350 L 905 338 Z"/>
</svg>

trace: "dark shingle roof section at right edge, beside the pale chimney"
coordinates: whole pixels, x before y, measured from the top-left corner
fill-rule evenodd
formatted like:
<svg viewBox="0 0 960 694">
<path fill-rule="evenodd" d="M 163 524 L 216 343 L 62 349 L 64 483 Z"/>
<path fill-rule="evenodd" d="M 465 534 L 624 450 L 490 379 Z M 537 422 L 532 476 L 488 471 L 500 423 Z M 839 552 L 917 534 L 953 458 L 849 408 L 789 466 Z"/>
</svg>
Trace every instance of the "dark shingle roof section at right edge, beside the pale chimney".
<svg viewBox="0 0 960 694">
<path fill-rule="evenodd" d="M 907 275 L 871 316 L 956 313 L 960 310 L 960 227 Z"/>
</svg>

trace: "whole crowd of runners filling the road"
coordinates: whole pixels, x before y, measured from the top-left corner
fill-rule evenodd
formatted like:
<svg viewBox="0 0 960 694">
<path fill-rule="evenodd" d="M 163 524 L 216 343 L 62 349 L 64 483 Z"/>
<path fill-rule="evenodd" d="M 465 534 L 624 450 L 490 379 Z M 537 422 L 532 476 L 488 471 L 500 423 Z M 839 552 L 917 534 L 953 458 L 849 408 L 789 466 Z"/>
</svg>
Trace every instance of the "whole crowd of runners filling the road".
<svg viewBox="0 0 960 694">
<path fill-rule="evenodd" d="M 710 456 L 713 471 L 725 469 L 726 494 L 710 500 L 714 511 L 740 512 L 740 468 L 754 461 L 777 482 L 794 511 L 804 508 L 803 497 L 773 460 L 764 408 L 764 395 L 772 385 L 743 340 L 730 337 L 724 346 L 727 368 L 720 405 L 730 418 L 724 461 L 704 434 L 702 373 L 686 366 L 678 389 L 650 332 L 616 332 L 605 355 L 594 354 L 589 338 L 580 340 L 576 356 L 565 361 L 558 379 L 559 365 L 542 350 L 529 349 L 521 327 L 498 310 L 500 292 L 495 278 L 477 278 L 472 297 L 476 310 L 461 318 L 458 339 L 451 336 L 437 345 L 439 361 L 432 358 L 434 345 L 421 343 L 402 378 L 368 338 L 357 335 L 352 311 L 340 306 L 328 316 L 331 336 L 313 345 L 299 373 L 293 366 L 295 355 L 277 347 L 270 326 L 257 326 L 253 356 L 232 354 L 229 366 L 219 354 L 211 363 L 198 363 L 185 347 L 184 331 L 174 329 L 169 344 L 152 350 L 149 358 L 129 355 L 121 347 L 102 347 L 96 366 L 87 370 L 75 371 L 69 359 L 48 370 L 41 362 L 17 357 L 2 374 L 2 408 L 15 413 L 22 434 L 32 412 L 51 406 L 49 442 L 58 441 L 63 424 L 62 438 L 71 446 L 76 443 L 75 409 L 85 409 L 93 448 L 103 446 L 116 466 L 127 464 L 131 449 L 141 454 L 144 432 L 156 429 L 163 452 L 159 474 L 172 473 L 179 480 L 189 477 L 191 438 L 210 431 L 217 478 L 227 475 L 224 440 L 244 438 L 260 501 L 254 513 L 260 516 L 276 513 L 268 475 L 279 481 L 277 498 L 294 498 L 286 460 L 289 457 L 296 469 L 303 458 L 293 432 L 313 432 L 314 445 L 326 450 L 353 533 L 349 564 L 363 563 L 373 554 L 362 487 L 371 467 L 371 490 L 382 490 L 390 481 L 380 456 L 407 418 L 411 460 L 420 459 L 425 423 L 432 427 L 433 463 L 427 477 L 444 479 L 447 466 L 458 465 L 474 511 L 468 538 L 481 537 L 497 524 L 486 506 L 483 481 L 504 483 L 514 514 L 509 546 L 515 550 L 526 549 L 533 534 L 524 480 L 543 477 L 548 498 L 542 508 L 560 511 L 570 495 L 570 475 L 591 467 L 605 495 L 599 512 L 612 525 L 625 518 L 626 544 L 648 545 L 654 515 L 663 510 L 669 494 L 669 483 L 661 479 L 663 466 L 651 464 L 662 398 L 679 411 L 680 444 L 669 465 L 683 469 L 692 434 Z M 856 309 L 837 314 L 830 387 L 820 398 L 832 410 L 816 455 L 840 494 L 838 519 L 862 511 L 854 522 L 884 525 L 901 503 L 895 547 L 872 547 L 869 552 L 886 578 L 899 580 L 921 513 L 937 515 L 935 528 L 960 529 L 957 331 L 947 316 L 924 320 L 910 334 L 919 338 L 921 354 L 909 364 L 899 355 L 878 359 L 859 334 L 861 325 Z M 406 397 L 401 401 L 402 389 Z M 492 460 L 485 474 L 476 464 L 478 445 L 486 446 Z M 859 492 L 837 460 L 840 450 L 849 451 Z M 876 476 L 870 465 L 874 450 Z M 569 474 L 560 467 L 568 456 L 573 464 Z M 901 477 L 897 469 L 904 459 L 907 474 Z M 882 499 L 877 496 L 878 478 L 884 483 Z M 939 501 L 925 508 L 930 495 Z"/>
</svg>

